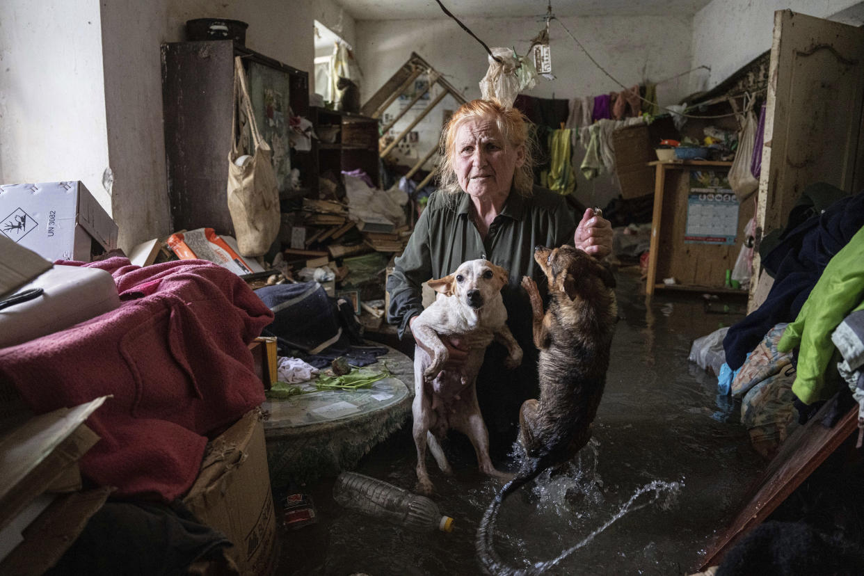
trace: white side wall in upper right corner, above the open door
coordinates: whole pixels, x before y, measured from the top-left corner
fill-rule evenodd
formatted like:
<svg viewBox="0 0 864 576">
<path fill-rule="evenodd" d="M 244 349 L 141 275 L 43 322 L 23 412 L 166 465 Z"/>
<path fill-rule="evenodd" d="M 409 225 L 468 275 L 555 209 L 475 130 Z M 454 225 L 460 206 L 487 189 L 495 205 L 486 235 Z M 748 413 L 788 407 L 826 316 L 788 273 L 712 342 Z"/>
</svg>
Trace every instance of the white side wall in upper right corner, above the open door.
<svg viewBox="0 0 864 576">
<path fill-rule="evenodd" d="M 831 18 L 860 0 L 714 0 L 693 18 L 692 66 L 710 66 L 691 91 L 710 90 L 771 48 L 774 11 Z"/>
</svg>

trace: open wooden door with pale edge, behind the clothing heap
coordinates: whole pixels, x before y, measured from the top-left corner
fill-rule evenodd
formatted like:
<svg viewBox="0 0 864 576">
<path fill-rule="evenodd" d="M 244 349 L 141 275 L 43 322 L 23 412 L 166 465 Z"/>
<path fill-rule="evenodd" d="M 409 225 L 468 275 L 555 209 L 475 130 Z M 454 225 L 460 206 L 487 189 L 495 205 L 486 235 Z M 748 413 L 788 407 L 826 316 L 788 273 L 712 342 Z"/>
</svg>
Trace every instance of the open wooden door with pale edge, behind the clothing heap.
<svg viewBox="0 0 864 576">
<path fill-rule="evenodd" d="M 823 181 L 854 193 L 862 182 L 864 30 L 778 10 L 768 78 L 757 247 L 785 226 L 807 185 Z M 754 277 L 760 269 L 754 253 Z M 765 301 L 770 283 L 766 274 L 751 282 L 748 312 Z"/>
</svg>

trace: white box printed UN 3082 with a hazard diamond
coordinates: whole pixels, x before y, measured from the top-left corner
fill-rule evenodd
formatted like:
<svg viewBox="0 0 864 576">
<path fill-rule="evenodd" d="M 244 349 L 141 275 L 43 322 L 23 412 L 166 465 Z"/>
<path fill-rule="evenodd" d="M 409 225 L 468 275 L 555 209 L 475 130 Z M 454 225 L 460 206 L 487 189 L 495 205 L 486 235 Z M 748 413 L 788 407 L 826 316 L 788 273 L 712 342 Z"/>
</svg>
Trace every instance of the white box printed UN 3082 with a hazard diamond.
<svg viewBox="0 0 864 576">
<path fill-rule="evenodd" d="M 0 186 L 0 218 L 0 234 L 51 261 L 117 248 L 117 225 L 80 181 Z"/>
</svg>

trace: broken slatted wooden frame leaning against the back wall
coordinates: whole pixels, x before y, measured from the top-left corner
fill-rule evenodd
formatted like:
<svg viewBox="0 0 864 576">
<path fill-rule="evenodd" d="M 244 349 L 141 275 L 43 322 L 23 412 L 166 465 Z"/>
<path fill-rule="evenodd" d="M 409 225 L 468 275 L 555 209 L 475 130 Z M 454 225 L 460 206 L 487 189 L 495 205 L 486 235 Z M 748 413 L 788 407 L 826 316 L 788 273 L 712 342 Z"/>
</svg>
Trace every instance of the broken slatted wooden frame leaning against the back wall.
<svg viewBox="0 0 864 576">
<path fill-rule="evenodd" d="M 391 150 L 396 148 L 399 142 L 402 142 L 403 139 L 408 136 L 410 131 L 413 130 L 414 127 L 418 123 L 420 123 L 420 121 L 424 117 L 426 117 L 429 112 L 432 111 L 435 106 L 438 105 L 442 101 L 442 99 L 448 94 L 453 96 L 453 98 L 459 104 L 465 104 L 467 102 L 465 97 L 462 96 L 461 92 L 456 90 L 453 85 L 450 85 L 450 83 L 442 77 L 441 73 L 436 72 L 432 66 L 429 66 L 429 63 L 426 62 L 426 60 L 423 60 L 416 53 L 412 52 L 410 59 L 405 62 L 403 66 L 399 68 L 399 70 L 397 70 L 397 73 L 393 74 L 391 79 L 387 80 L 384 85 L 378 89 L 378 92 L 375 92 L 375 94 L 372 95 L 372 98 L 369 98 L 369 100 L 365 104 L 363 104 L 360 113 L 364 116 L 369 116 L 373 118 L 381 117 L 381 115 L 384 114 L 384 111 L 386 111 L 387 108 L 391 104 L 393 104 L 393 102 L 397 98 L 402 96 L 403 93 L 405 93 L 405 91 L 407 91 L 409 87 L 414 83 L 414 80 L 416 80 L 417 77 L 420 76 L 422 73 L 427 73 L 429 75 L 429 85 L 427 85 L 426 90 L 417 94 L 414 99 L 411 100 L 410 104 L 405 106 L 405 108 L 400 111 L 396 115 L 396 117 L 394 117 L 389 123 L 384 126 L 382 132 L 390 130 L 399 120 L 401 120 L 402 117 L 408 111 L 410 111 L 411 107 L 414 106 L 414 104 L 416 104 L 417 101 L 422 98 L 424 94 L 429 92 L 433 85 L 440 85 L 443 90 L 440 94 L 438 94 L 438 96 L 435 97 L 435 99 L 429 102 L 429 104 L 427 104 L 427 106 L 422 111 L 420 111 L 413 120 L 411 120 L 408 126 L 399 133 L 399 135 L 393 140 L 393 142 L 390 142 L 389 144 L 386 144 L 383 148 L 381 148 L 381 151 L 379 153 L 381 158 L 384 158 L 384 156 L 390 154 Z M 405 174 L 405 178 L 410 179 L 414 174 L 416 174 L 417 171 L 420 170 L 420 168 L 422 168 L 422 166 L 427 161 L 429 161 L 429 158 L 435 155 L 435 152 L 437 151 L 438 146 L 435 145 L 432 149 L 429 150 L 429 152 L 423 155 L 423 157 L 419 161 L 417 161 L 413 167 L 411 167 L 409 172 Z M 429 175 L 427 175 L 426 178 L 424 178 L 419 184 L 417 184 L 417 189 L 419 190 L 429 184 L 429 180 L 432 180 L 432 176 L 434 174 L 435 170 L 429 171 Z"/>
</svg>

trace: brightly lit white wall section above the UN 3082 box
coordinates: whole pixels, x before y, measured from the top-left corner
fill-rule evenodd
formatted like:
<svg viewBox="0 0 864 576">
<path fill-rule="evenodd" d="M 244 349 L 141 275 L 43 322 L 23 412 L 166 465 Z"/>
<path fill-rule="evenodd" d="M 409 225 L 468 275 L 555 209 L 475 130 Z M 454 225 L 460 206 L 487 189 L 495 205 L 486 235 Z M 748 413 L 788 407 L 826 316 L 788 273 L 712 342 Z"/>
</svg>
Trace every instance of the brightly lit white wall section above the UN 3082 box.
<svg viewBox="0 0 864 576">
<path fill-rule="evenodd" d="M 0 183 L 81 180 L 105 209 L 98 0 L 0 3 Z"/>
</svg>

